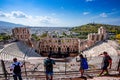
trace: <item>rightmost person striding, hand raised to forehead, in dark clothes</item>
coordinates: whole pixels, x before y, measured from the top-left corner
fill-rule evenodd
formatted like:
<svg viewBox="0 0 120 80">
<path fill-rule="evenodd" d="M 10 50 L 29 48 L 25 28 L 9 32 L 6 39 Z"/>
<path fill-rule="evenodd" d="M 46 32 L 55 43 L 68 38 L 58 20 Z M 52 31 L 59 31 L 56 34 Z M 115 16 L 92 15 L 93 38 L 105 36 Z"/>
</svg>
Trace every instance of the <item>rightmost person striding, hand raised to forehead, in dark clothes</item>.
<svg viewBox="0 0 120 80">
<path fill-rule="evenodd" d="M 101 76 L 105 71 L 106 71 L 106 75 L 108 75 L 109 74 L 108 67 L 109 69 L 111 69 L 112 58 L 108 55 L 107 52 L 103 52 L 103 54 L 100 54 L 100 55 L 104 55 L 104 57 L 103 57 L 102 68 L 101 68 L 102 71 L 98 76 Z"/>
</svg>

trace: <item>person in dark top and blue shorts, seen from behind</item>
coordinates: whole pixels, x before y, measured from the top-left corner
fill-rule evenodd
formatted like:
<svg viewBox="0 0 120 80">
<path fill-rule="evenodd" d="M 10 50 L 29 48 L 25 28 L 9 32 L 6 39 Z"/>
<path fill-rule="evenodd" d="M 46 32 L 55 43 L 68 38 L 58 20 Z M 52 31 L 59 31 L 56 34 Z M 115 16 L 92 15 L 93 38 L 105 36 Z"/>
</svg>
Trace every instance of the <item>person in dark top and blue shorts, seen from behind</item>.
<svg viewBox="0 0 120 80">
<path fill-rule="evenodd" d="M 55 61 L 51 59 L 51 55 L 48 55 L 48 58 L 44 60 L 46 80 L 53 80 L 53 64 L 55 65 Z"/>
</svg>

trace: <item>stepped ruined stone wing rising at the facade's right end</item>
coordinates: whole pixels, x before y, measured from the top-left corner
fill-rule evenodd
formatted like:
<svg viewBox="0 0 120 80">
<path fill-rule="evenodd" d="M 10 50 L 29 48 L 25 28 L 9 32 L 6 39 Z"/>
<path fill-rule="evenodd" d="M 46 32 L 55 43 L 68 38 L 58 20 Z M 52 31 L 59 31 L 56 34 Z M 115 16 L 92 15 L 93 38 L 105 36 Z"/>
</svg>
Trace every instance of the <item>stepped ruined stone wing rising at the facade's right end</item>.
<svg viewBox="0 0 120 80">
<path fill-rule="evenodd" d="M 104 27 L 100 27 L 98 28 L 98 33 L 90 33 L 88 34 L 87 40 L 79 41 L 79 52 L 93 46 L 95 43 L 99 41 L 104 41 L 106 39 L 107 39 L 107 31 Z"/>
</svg>

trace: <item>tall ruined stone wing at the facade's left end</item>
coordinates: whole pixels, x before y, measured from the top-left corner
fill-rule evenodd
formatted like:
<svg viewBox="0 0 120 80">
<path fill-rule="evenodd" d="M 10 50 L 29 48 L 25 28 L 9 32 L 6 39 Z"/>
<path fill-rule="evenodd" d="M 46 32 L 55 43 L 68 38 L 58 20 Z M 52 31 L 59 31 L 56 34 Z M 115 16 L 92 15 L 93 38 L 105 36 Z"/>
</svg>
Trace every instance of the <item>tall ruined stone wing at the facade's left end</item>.
<svg viewBox="0 0 120 80">
<path fill-rule="evenodd" d="M 27 41 L 30 39 L 30 32 L 28 28 L 14 28 L 12 29 L 12 34 L 16 40 Z"/>
</svg>

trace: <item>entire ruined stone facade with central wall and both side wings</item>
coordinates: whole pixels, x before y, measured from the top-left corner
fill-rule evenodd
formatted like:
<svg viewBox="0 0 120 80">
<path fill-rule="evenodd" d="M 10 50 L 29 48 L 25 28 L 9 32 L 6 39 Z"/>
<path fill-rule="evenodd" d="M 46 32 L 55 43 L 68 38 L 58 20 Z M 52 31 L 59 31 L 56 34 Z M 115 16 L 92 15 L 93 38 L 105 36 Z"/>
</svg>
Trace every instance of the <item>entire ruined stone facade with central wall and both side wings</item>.
<svg viewBox="0 0 120 80">
<path fill-rule="evenodd" d="M 88 39 L 82 40 L 78 38 L 53 38 L 47 36 L 41 38 L 38 42 L 30 40 L 30 33 L 27 28 L 15 28 L 12 30 L 13 36 L 17 40 L 27 41 L 30 46 L 33 45 L 38 53 L 78 53 L 81 52 L 99 41 L 107 39 L 106 29 L 100 27 L 98 33 L 88 34 Z"/>
</svg>

